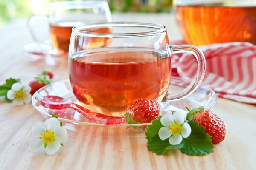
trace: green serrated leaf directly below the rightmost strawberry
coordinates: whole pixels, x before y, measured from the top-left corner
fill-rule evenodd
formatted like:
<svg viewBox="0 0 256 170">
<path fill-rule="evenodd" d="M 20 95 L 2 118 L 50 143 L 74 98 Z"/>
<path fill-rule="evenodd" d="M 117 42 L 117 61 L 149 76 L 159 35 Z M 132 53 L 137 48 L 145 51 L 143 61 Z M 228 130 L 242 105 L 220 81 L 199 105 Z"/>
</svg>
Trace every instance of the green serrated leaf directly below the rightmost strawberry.
<svg viewBox="0 0 256 170">
<path fill-rule="evenodd" d="M 207 155 L 212 153 L 214 145 L 211 142 L 211 136 L 204 132 L 205 128 L 198 122 L 189 121 L 191 134 L 188 138 L 183 139 L 185 142 L 182 153 L 187 155 Z"/>
</svg>

